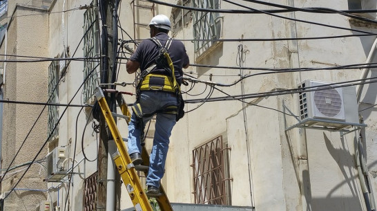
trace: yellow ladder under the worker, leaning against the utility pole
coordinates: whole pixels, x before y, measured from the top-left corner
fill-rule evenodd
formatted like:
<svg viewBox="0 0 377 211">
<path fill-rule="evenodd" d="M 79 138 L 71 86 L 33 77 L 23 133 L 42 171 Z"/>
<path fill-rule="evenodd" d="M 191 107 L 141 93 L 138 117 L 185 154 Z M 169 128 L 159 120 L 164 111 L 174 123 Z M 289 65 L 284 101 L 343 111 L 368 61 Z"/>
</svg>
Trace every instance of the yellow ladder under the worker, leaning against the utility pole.
<svg viewBox="0 0 377 211">
<path fill-rule="evenodd" d="M 146 192 L 144 192 L 142 185 L 140 183 L 139 176 L 137 175 L 137 169 L 140 169 L 144 172 L 144 174 L 148 173 L 148 166 L 149 166 L 149 155 L 146 151 L 145 146 L 142 147 L 142 158 L 144 165 L 146 166 L 136 166 L 131 162 L 131 158 L 128 155 L 126 150 L 126 145 L 124 144 L 123 138 L 119 133 L 117 128 L 117 124 L 113 118 L 113 114 L 108 107 L 108 103 L 106 102 L 106 98 L 104 97 L 104 93 L 100 88 L 97 88 L 95 97 L 99 103 L 99 107 L 101 107 L 102 114 L 106 120 L 108 128 L 111 131 L 111 135 L 114 138 L 115 144 L 117 145 L 118 151 L 113 154 L 113 159 L 115 162 L 115 166 L 117 167 L 120 176 L 122 177 L 124 185 L 126 185 L 126 190 L 128 195 L 133 202 L 136 211 L 152 211 L 151 203 L 148 200 L 148 196 Z M 117 103 L 126 118 L 126 122 L 131 120 L 131 112 L 127 107 L 126 102 L 124 101 L 123 96 L 118 93 L 117 94 Z M 161 211 L 173 211 L 170 202 L 166 196 L 164 188 L 160 182 L 160 194 L 154 195 L 151 197 L 155 198 L 158 205 L 160 206 Z"/>
</svg>

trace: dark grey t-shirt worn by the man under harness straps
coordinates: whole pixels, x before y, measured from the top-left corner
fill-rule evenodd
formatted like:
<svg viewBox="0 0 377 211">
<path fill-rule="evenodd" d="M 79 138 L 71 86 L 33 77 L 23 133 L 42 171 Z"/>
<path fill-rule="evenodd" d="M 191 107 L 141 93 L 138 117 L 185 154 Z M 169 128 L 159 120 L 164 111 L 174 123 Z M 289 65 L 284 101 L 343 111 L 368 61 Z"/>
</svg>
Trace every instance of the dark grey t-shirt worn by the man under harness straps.
<svg viewBox="0 0 377 211">
<path fill-rule="evenodd" d="M 168 40 L 168 35 L 166 33 L 158 33 L 155 36 L 160 40 L 162 46 L 165 46 Z M 155 62 L 155 58 L 158 55 L 158 46 L 151 39 L 146 39 L 137 46 L 136 51 L 131 56 L 131 61 L 137 61 L 140 63 L 140 70 L 144 71 L 146 68 L 151 66 Z M 186 53 L 186 48 L 184 44 L 178 40 L 173 39 L 168 53 L 173 61 L 174 74 L 178 84 L 182 84 L 183 71 L 182 67 L 189 64 L 189 56 Z M 170 75 L 163 68 L 157 68 L 153 73 L 160 73 L 164 75 Z"/>
</svg>

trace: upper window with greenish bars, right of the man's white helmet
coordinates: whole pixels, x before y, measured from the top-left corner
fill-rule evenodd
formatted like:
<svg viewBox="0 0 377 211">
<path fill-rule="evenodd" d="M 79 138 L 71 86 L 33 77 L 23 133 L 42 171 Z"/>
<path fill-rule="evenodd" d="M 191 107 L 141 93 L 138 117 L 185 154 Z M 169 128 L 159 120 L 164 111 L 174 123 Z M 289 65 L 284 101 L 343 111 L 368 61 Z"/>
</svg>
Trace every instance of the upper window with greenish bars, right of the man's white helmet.
<svg viewBox="0 0 377 211">
<path fill-rule="evenodd" d="M 220 9 L 220 0 L 193 0 L 194 8 Z M 220 39 L 222 22 L 218 12 L 195 11 L 193 15 L 194 39 Z M 199 40 L 194 42 L 195 53 L 204 53 L 215 41 Z"/>
</svg>

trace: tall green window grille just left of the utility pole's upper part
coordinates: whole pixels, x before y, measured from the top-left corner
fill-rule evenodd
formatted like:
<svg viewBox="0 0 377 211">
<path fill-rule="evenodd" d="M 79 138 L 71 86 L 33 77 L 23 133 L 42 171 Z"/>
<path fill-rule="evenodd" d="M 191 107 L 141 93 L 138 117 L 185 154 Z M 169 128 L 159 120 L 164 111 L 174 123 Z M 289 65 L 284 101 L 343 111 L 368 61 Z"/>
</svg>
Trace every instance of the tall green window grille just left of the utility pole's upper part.
<svg viewBox="0 0 377 211">
<path fill-rule="evenodd" d="M 91 3 L 93 6 L 93 3 Z M 96 7 L 88 8 L 84 12 L 84 57 L 99 57 L 99 27 L 95 12 Z M 84 84 L 84 102 L 91 103 L 90 98 L 95 94 L 99 86 L 100 73 L 97 64 L 99 61 L 93 59 L 84 61 L 84 79 L 89 75 Z M 97 66 L 97 68 L 95 68 Z M 95 70 L 93 71 L 93 69 Z"/>
</svg>

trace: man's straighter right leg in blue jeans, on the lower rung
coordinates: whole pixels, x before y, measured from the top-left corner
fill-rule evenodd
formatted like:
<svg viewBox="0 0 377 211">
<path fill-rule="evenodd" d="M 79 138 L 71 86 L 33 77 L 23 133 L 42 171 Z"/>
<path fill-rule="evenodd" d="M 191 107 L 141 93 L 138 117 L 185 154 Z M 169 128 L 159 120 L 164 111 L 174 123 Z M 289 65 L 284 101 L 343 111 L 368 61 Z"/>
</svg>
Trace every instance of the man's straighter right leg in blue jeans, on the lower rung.
<svg viewBox="0 0 377 211">
<path fill-rule="evenodd" d="M 151 157 L 149 158 L 149 171 L 146 185 L 160 187 L 160 180 L 164 176 L 165 160 L 168 154 L 169 138 L 175 125 L 175 114 L 157 113 L 155 125 L 155 138 Z"/>
</svg>

